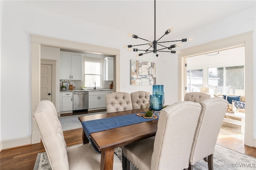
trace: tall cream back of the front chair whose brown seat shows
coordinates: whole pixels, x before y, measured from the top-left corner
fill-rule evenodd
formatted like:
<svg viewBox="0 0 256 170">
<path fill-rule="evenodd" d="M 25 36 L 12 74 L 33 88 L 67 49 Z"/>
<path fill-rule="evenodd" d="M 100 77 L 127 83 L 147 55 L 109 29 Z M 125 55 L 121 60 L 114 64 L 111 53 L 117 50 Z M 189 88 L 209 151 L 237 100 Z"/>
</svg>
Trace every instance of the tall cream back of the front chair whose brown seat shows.
<svg viewBox="0 0 256 170">
<path fill-rule="evenodd" d="M 201 105 L 174 103 L 160 112 L 150 169 L 185 169 L 193 143 Z"/>
</svg>

